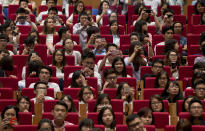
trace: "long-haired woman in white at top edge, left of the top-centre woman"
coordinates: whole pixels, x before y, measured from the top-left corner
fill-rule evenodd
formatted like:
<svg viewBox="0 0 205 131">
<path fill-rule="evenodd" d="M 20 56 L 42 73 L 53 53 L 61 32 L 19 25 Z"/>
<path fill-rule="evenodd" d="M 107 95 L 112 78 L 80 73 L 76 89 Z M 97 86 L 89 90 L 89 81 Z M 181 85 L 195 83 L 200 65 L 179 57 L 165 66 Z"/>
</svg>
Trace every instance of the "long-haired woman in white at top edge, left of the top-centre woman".
<svg viewBox="0 0 205 131">
<path fill-rule="evenodd" d="M 85 12 L 85 5 L 82 1 L 78 1 L 75 4 L 74 11 L 71 16 L 67 19 L 66 25 L 71 26 L 73 25 L 73 15 L 79 15 L 80 13 Z"/>
</svg>

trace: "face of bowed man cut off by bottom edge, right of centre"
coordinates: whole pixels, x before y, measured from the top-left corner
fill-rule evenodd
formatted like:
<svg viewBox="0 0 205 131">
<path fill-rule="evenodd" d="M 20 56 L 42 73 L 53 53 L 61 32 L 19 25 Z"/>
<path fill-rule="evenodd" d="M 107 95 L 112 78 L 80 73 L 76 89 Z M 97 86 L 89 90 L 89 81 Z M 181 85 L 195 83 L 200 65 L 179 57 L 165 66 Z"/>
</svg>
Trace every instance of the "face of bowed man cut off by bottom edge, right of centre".
<svg viewBox="0 0 205 131">
<path fill-rule="evenodd" d="M 144 131 L 144 125 L 140 118 L 135 118 L 128 125 L 129 131 Z"/>
</svg>

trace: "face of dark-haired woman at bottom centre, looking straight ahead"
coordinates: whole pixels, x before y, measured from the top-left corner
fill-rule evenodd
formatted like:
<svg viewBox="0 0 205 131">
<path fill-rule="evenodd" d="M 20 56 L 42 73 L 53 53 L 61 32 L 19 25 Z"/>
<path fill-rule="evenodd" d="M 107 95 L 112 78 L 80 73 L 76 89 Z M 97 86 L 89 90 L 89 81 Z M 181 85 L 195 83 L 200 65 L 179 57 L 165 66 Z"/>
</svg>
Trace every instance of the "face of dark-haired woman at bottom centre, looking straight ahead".
<svg viewBox="0 0 205 131">
<path fill-rule="evenodd" d="M 102 121 L 106 127 L 110 127 L 110 125 L 112 124 L 113 115 L 109 109 L 104 111 L 103 116 L 102 116 Z"/>
</svg>

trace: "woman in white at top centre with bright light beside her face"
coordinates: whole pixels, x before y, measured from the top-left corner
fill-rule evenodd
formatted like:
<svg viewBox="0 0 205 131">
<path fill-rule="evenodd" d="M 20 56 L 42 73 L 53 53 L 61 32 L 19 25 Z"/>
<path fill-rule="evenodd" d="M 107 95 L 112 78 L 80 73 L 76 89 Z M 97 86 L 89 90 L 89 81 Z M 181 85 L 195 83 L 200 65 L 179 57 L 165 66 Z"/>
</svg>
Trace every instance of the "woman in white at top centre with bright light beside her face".
<svg viewBox="0 0 205 131">
<path fill-rule="evenodd" d="M 103 15 L 108 15 L 110 4 L 108 1 L 102 1 L 100 3 L 100 7 L 98 9 L 98 15 L 96 16 L 96 23 L 98 25 L 102 25 L 102 17 Z"/>
</svg>

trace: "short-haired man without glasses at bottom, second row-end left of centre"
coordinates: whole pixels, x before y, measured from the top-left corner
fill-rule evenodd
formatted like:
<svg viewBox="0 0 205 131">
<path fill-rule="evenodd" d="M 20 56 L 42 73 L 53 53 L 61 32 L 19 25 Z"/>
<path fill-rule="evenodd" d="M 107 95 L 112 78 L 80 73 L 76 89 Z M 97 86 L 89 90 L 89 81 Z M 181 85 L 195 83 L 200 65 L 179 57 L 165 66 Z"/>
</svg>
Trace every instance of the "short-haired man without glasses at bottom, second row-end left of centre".
<svg viewBox="0 0 205 131">
<path fill-rule="evenodd" d="M 65 131 L 65 126 L 73 125 L 73 123 L 65 121 L 65 118 L 68 115 L 68 106 L 65 102 L 57 102 L 53 107 L 52 114 L 54 117 L 52 123 L 56 131 Z"/>
</svg>

